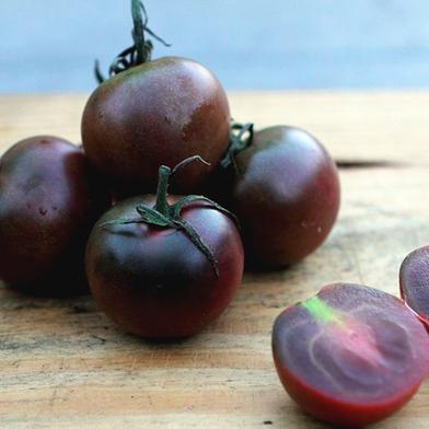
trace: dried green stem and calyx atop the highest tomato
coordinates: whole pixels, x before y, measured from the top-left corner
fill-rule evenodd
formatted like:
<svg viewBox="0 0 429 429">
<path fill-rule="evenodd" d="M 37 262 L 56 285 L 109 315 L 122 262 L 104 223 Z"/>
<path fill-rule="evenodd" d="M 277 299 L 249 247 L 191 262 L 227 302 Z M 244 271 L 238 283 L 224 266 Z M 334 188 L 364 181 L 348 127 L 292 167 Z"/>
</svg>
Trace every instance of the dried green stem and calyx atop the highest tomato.
<svg viewBox="0 0 429 429">
<path fill-rule="evenodd" d="M 108 69 L 108 77 L 112 78 L 115 74 L 119 74 L 123 71 L 142 65 L 143 62 L 150 61 L 152 58 L 153 43 L 150 39 L 146 39 L 144 34 L 148 33 L 154 39 L 160 42 L 166 47 L 171 45 L 153 33 L 148 27 L 148 13 L 144 4 L 140 0 L 131 0 L 131 13 L 134 21 L 132 39 L 134 45 L 123 50 L 112 62 Z M 100 70 L 98 60 L 95 61 L 95 79 L 98 83 L 103 83 L 106 78 Z"/>
</svg>

